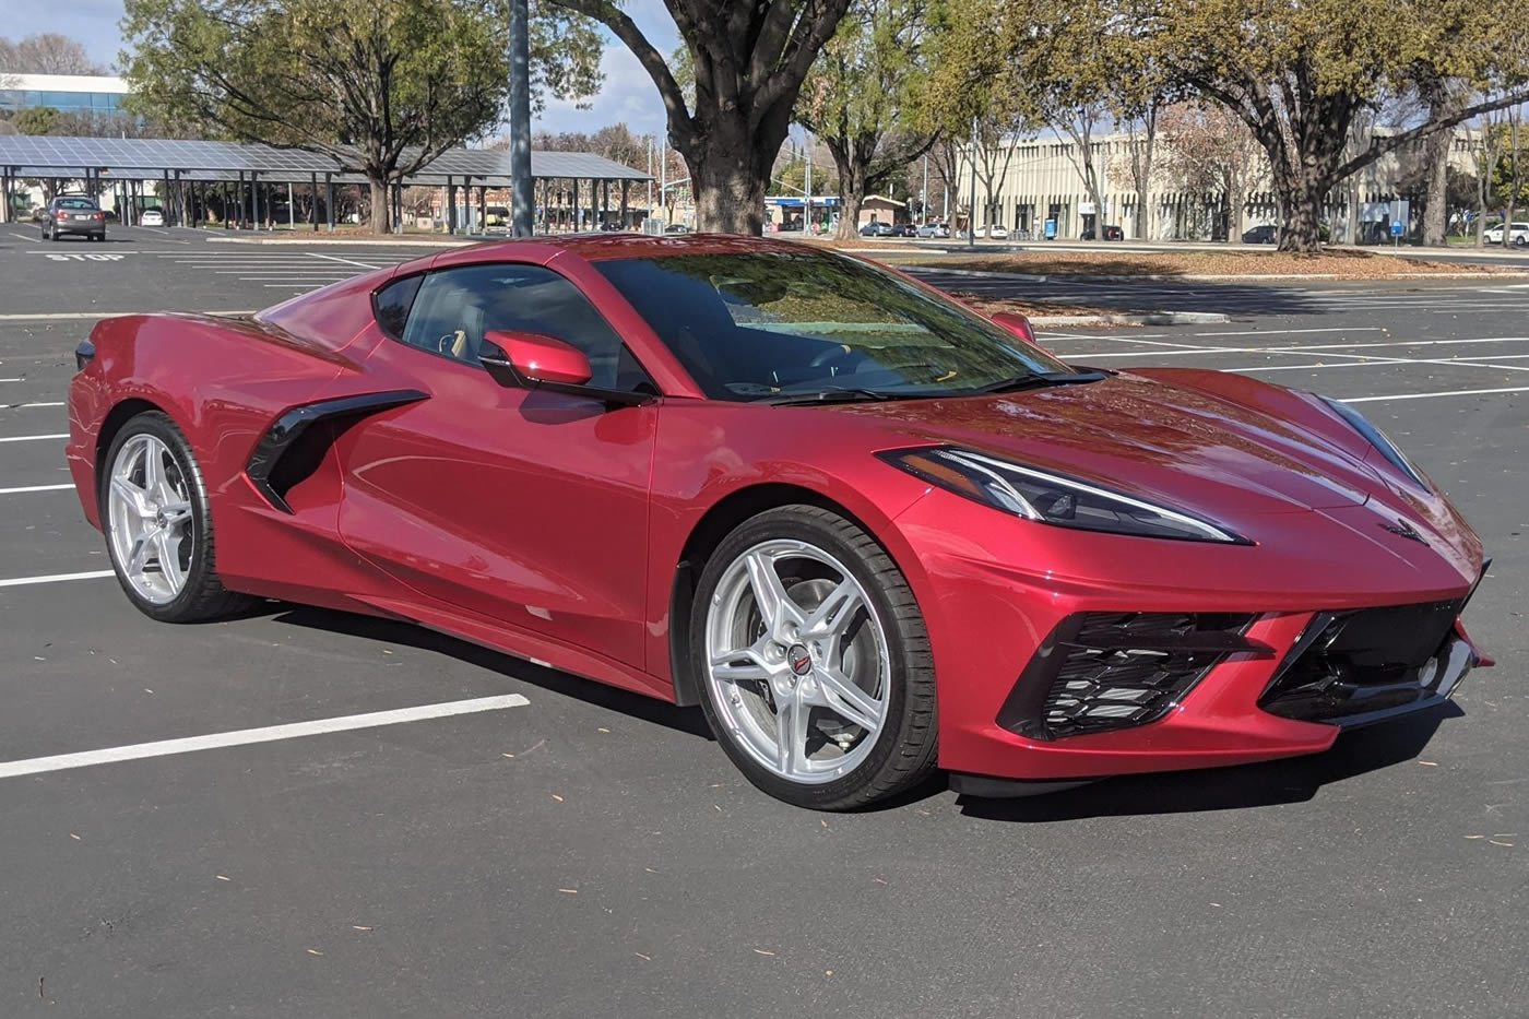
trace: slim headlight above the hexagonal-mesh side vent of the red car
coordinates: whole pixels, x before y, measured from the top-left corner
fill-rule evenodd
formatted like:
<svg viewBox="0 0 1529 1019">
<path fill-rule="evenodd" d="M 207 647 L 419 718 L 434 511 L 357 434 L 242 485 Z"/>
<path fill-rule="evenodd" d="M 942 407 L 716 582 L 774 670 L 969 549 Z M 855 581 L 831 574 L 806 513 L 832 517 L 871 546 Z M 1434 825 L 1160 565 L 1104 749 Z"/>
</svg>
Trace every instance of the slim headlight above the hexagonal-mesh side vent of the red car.
<svg viewBox="0 0 1529 1019">
<path fill-rule="evenodd" d="M 879 456 L 931 485 L 1037 523 L 1139 537 L 1252 545 L 1245 537 L 1187 513 L 971 450 L 924 447 Z"/>
</svg>

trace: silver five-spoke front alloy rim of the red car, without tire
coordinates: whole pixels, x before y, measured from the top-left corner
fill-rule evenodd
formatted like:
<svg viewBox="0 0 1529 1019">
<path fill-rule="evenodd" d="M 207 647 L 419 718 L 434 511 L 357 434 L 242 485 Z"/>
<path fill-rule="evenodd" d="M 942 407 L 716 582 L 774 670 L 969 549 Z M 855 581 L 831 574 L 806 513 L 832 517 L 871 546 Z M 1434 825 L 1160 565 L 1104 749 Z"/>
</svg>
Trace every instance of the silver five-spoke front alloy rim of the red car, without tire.
<svg viewBox="0 0 1529 1019">
<path fill-rule="evenodd" d="M 815 545 L 761 542 L 728 565 L 706 612 L 706 661 L 722 724 L 789 782 L 844 777 L 885 724 L 881 618 L 855 575 Z"/>
</svg>

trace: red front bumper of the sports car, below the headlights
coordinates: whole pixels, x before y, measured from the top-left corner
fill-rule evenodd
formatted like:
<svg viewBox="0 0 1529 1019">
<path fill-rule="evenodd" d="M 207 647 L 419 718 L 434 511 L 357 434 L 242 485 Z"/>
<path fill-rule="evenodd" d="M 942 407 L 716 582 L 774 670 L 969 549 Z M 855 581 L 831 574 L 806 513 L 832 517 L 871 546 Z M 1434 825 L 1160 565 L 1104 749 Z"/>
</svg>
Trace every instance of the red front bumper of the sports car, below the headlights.
<svg viewBox="0 0 1529 1019">
<path fill-rule="evenodd" d="M 940 767 L 953 773 L 1064 782 L 1320 753 L 1346 727 L 1437 705 L 1471 667 L 1489 664 L 1457 620 L 1485 569 L 1480 545 L 1468 531 L 1460 542 L 1423 548 L 1427 555 L 1404 562 L 1344 540 L 1301 540 L 1289 549 L 1226 548 L 1057 528 L 992 528 L 980 517 L 962 520 L 960 502 L 927 499 L 898 519 L 924 569 L 919 598 L 939 675 Z M 1307 517 L 1318 514 L 1290 514 L 1283 529 L 1315 528 Z M 1405 669 L 1390 676 L 1393 681 L 1361 682 L 1349 692 L 1355 698 L 1336 704 L 1344 690 L 1324 685 L 1324 675 L 1307 670 L 1301 676 L 1307 685 L 1316 682 L 1336 699 L 1316 713 L 1271 710 L 1268 695 L 1289 693 L 1275 684 L 1289 673 L 1301 638 L 1313 626 L 1320 633 L 1336 615 L 1425 604 L 1449 604 L 1453 610 L 1422 659 L 1398 659 Z M 1047 643 L 1066 635 L 1079 617 L 1112 614 L 1200 614 L 1216 623 L 1190 629 L 1203 629 L 1202 636 L 1216 640 L 1194 641 L 1191 650 L 1199 658 L 1167 678 L 1165 698 L 1142 701 L 1150 710 L 1130 724 L 1057 725 L 1052 710 L 1061 704 L 1066 716 L 1073 708 L 1047 701 L 1058 669 L 1040 670 L 1043 689 L 1026 689 L 1024 673 L 1035 673 Z M 1425 673 L 1428 661 L 1434 664 Z M 1407 669 L 1410 676 L 1401 675 Z M 1338 681 L 1341 685 L 1344 678 Z M 1411 689 L 1404 690 L 1405 684 Z M 1372 693 L 1381 695 L 1375 710 L 1364 704 Z M 1017 701 L 1027 710 L 1017 713 Z"/>
</svg>

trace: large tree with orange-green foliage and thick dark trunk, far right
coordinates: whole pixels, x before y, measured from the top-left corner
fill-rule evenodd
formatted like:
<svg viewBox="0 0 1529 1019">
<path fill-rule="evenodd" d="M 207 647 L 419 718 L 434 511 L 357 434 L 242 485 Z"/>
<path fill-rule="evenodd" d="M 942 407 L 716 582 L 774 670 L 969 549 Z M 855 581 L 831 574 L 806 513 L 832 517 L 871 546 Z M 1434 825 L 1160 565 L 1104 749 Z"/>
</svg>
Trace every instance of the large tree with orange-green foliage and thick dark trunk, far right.
<svg viewBox="0 0 1529 1019">
<path fill-rule="evenodd" d="M 1234 112 L 1263 145 L 1284 251 L 1320 248 L 1323 202 L 1355 171 L 1529 95 L 1529 8 L 1518 0 L 1159 0 L 1145 34 L 1180 81 Z M 1414 125 L 1350 148 L 1355 118 L 1420 77 L 1500 90 L 1434 106 Z"/>
</svg>

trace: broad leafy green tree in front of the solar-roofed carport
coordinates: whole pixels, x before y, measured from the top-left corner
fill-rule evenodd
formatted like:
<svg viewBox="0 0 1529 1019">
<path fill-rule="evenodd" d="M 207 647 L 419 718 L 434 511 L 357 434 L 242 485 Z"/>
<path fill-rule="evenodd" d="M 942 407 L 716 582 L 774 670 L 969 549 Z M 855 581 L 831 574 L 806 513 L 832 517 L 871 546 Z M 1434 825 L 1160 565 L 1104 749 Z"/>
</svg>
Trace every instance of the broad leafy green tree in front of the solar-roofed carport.
<svg viewBox="0 0 1529 1019">
<path fill-rule="evenodd" d="M 503 0 L 127 0 L 133 110 L 332 156 L 365 174 L 372 228 L 388 185 L 498 122 L 509 90 Z M 590 95 L 598 31 L 535 6 L 534 86 Z M 538 89 L 538 90 L 540 90 Z"/>
</svg>

